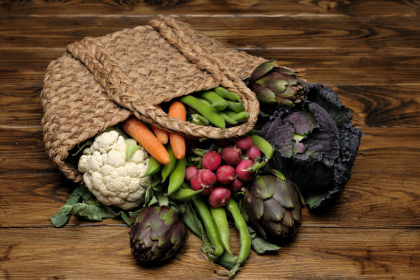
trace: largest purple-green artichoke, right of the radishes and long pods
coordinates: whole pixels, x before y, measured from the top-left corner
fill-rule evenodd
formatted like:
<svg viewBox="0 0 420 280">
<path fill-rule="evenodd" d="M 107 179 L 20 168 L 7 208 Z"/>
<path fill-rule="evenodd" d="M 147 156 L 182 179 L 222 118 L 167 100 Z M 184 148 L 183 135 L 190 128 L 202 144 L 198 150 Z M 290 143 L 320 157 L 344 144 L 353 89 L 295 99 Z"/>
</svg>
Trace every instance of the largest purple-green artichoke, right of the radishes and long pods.
<svg viewBox="0 0 420 280">
<path fill-rule="evenodd" d="M 280 172 L 257 177 L 241 202 L 246 222 L 261 237 L 292 237 L 302 222 L 301 197 L 296 185 Z"/>
</svg>

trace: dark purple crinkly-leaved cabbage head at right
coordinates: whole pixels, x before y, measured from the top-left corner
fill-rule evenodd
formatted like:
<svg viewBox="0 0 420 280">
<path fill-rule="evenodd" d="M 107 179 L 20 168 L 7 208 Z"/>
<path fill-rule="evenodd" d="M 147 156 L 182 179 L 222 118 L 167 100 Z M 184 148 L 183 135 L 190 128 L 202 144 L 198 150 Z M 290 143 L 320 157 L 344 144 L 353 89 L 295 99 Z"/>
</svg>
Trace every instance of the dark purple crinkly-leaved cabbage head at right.
<svg viewBox="0 0 420 280">
<path fill-rule="evenodd" d="M 344 189 L 363 134 L 334 91 L 305 86 L 301 106 L 277 110 L 261 136 L 275 146 L 272 167 L 296 183 L 310 209 L 318 209 Z"/>
</svg>

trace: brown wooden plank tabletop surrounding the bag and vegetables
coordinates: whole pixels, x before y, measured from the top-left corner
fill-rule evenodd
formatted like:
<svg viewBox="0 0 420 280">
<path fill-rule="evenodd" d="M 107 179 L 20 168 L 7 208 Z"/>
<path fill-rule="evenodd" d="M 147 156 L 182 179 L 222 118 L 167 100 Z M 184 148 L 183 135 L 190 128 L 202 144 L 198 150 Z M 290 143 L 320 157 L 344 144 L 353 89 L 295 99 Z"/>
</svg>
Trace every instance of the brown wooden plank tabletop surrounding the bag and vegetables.
<svg viewBox="0 0 420 280">
<path fill-rule="evenodd" d="M 84 36 L 160 15 L 306 69 L 308 82 L 333 87 L 365 134 L 336 205 L 304 209 L 294 240 L 277 255 L 251 253 L 235 278 L 420 279 L 419 7 L 416 0 L 1 1 L 0 279 L 223 278 L 193 234 L 170 263 L 141 268 L 121 220 L 71 218 L 61 229 L 49 222 L 74 184 L 44 148 L 47 65 Z"/>
</svg>

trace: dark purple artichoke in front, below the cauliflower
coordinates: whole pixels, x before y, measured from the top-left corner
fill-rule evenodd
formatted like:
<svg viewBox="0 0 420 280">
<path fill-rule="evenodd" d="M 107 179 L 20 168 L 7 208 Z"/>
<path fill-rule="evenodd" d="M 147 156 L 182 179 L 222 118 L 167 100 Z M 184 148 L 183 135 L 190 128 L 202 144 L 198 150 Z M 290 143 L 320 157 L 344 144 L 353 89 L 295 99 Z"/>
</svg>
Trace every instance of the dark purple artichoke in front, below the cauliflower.
<svg viewBox="0 0 420 280">
<path fill-rule="evenodd" d="M 185 242 L 186 229 L 170 207 L 147 207 L 130 231 L 131 253 L 141 264 L 161 264 Z"/>
</svg>

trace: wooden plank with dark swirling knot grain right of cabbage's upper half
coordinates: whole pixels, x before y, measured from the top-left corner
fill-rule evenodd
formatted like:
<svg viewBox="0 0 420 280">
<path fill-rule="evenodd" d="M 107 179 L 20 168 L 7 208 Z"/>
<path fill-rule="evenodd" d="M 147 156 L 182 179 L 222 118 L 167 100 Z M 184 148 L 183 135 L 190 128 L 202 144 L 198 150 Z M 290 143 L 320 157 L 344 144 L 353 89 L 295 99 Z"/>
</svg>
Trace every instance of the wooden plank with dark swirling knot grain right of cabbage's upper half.
<svg viewBox="0 0 420 280">
<path fill-rule="evenodd" d="M 0 66 L 1 67 L 1 66 Z M 352 110 L 355 126 L 418 126 L 419 85 L 334 86 L 342 104 Z M 0 89 L 0 126 L 40 127 L 42 86 L 3 86 Z"/>
</svg>

